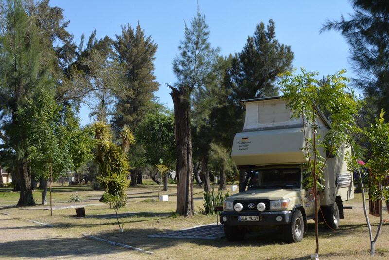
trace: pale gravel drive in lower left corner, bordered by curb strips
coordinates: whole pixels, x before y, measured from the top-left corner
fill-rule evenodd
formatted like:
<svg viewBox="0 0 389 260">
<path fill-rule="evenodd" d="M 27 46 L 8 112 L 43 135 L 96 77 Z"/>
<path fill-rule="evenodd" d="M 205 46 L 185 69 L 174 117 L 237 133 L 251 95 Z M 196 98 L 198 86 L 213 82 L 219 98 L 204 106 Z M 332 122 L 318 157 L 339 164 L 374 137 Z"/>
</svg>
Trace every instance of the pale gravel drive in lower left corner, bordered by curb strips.
<svg viewBox="0 0 389 260">
<path fill-rule="evenodd" d="M 55 228 L 0 215 L 1 259 L 150 259 L 144 253 L 88 240 L 59 236 Z"/>
</svg>

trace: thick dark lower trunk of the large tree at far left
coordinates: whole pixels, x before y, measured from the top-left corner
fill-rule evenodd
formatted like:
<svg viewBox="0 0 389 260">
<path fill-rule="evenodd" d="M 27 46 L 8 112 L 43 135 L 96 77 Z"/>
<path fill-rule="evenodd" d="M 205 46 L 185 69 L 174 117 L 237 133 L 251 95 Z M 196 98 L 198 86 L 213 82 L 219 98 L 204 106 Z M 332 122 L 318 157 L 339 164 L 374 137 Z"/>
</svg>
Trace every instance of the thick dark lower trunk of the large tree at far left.
<svg viewBox="0 0 389 260">
<path fill-rule="evenodd" d="M 25 160 L 18 165 L 18 182 L 20 184 L 20 198 L 18 206 L 35 206 L 33 191 L 31 189 L 31 175 L 28 170 L 28 163 Z"/>
</svg>

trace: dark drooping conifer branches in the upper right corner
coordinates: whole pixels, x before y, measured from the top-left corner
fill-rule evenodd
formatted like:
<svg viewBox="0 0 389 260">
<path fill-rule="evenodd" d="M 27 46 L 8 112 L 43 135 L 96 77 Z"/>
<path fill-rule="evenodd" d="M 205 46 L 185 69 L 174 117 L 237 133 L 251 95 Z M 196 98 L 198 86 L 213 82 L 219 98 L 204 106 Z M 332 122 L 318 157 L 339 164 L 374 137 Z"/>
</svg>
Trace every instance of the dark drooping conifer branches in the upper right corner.
<svg viewBox="0 0 389 260">
<path fill-rule="evenodd" d="M 387 0 L 352 0 L 349 19 L 327 21 L 321 31 L 336 30 L 350 45 L 350 61 L 356 72 L 354 83 L 364 90 L 375 107 L 371 121 L 381 108 L 389 110 L 389 4 Z M 388 114 L 385 114 L 388 120 Z"/>
</svg>

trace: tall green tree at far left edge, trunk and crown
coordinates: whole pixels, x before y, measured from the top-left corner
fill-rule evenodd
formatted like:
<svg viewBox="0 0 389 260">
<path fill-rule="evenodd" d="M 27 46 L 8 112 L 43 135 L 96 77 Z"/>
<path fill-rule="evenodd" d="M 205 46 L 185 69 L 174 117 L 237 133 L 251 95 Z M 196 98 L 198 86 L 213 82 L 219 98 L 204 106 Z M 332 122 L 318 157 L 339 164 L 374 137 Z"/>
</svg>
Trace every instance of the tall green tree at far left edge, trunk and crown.
<svg viewBox="0 0 389 260">
<path fill-rule="evenodd" d="M 0 23 L 0 115 L 2 157 L 8 158 L 20 188 L 18 205 L 34 205 L 31 191 L 28 134 L 22 131 L 18 116 L 35 92 L 53 86 L 50 67 L 53 52 L 50 42 L 39 35 L 32 15 L 21 0 L 8 0 Z M 13 176 L 13 177 L 14 177 Z"/>
</svg>

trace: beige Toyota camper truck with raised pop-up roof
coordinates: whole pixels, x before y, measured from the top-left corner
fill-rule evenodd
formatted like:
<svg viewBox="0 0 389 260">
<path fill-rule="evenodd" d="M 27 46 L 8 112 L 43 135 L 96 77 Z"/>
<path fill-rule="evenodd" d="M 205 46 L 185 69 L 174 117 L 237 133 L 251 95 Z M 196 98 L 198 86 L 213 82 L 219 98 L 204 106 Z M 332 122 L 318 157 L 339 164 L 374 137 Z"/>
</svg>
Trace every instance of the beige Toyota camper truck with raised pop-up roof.
<svg viewBox="0 0 389 260">
<path fill-rule="evenodd" d="M 303 122 L 292 118 L 282 97 L 241 101 L 246 108 L 243 131 L 235 135 L 232 159 L 246 179 L 240 192 L 223 203 L 220 221 L 226 238 L 242 240 L 247 232 L 277 228 L 284 240 L 299 242 L 307 230 L 307 220 L 315 214 L 314 194 L 303 187 L 307 157 Z M 325 116 L 317 110 L 318 134 L 323 138 L 330 128 Z M 305 129 L 309 136 L 310 129 Z M 343 201 L 354 198 L 352 174 L 347 170 L 345 153 L 338 147 L 329 155 L 322 184 L 318 191 L 320 222 L 336 229 L 343 218 Z M 325 151 L 320 151 L 326 157 Z M 324 182 L 324 183 L 323 183 Z M 320 212 L 321 211 L 321 212 Z"/>
</svg>

